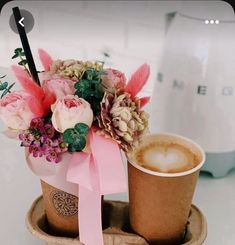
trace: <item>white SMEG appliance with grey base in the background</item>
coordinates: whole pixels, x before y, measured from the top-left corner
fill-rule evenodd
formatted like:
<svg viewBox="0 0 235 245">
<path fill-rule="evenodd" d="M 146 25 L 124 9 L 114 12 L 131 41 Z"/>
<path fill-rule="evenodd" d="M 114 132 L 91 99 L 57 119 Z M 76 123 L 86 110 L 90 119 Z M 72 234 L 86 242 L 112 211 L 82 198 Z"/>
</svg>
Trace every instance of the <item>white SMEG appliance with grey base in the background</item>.
<svg viewBox="0 0 235 245">
<path fill-rule="evenodd" d="M 216 2 L 216 4 L 215 4 Z M 151 100 L 151 132 L 192 138 L 214 177 L 235 167 L 235 16 L 219 1 L 186 1 L 167 16 Z"/>
</svg>

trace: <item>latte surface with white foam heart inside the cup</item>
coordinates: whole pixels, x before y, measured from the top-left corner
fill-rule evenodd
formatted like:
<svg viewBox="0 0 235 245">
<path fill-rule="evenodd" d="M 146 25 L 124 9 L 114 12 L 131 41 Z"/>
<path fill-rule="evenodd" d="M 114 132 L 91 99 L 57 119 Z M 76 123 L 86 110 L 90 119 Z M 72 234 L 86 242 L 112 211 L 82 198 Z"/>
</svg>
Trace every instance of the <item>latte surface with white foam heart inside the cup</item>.
<svg viewBox="0 0 235 245">
<path fill-rule="evenodd" d="M 161 173 L 179 173 L 200 163 L 200 158 L 187 146 L 173 140 L 154 140 L 141 144 L 132 153 L 132 159 L 140 166 Z"/>
</svg>

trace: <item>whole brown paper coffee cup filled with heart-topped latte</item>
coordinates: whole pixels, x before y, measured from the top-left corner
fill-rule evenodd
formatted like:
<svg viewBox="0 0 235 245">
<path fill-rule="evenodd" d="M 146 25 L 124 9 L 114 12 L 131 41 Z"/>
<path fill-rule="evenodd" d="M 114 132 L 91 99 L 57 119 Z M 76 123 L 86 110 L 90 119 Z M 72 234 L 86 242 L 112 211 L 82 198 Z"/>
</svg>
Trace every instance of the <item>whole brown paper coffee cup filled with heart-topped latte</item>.
<svg viewBox="0 0 235 245">
<path fill-rule="evenodd" d="M 203 149 L 188 138 L 161 133 L 142 138 L 127 159 L 133 231 L 150 244 L 181 244 L 205 162 Z"/>
</svg>

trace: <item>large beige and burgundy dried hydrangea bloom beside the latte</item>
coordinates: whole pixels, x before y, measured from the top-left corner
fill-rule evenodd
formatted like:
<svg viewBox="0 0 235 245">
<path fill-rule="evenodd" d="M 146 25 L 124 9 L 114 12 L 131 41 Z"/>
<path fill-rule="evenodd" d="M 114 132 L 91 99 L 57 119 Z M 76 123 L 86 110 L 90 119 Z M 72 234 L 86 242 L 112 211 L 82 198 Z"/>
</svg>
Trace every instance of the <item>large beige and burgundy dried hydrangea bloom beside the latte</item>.
<svg viewBox="0 0 235 245">
<path fill-rule="evenodd" d="M 101 102 L 101 114 L 97 118 L 98 133 L 114 139 L 128 152 L 137 145 L 148 130 L 148 114 L 141 110 L 140 100 L 126 92 L 106 92 Z"/>
</svg>

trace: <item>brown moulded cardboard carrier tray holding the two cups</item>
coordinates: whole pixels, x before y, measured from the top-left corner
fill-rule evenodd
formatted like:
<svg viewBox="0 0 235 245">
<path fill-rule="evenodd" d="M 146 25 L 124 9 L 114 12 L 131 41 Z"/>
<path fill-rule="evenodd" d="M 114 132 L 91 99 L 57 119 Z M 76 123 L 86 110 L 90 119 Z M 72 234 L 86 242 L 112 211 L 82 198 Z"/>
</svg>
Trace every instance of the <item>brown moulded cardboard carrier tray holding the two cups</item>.
<svg viewBox="0 0 235 245">
<path fill-rule="evenodd" d="M 131 231 L 129 225 L 129 204 L 119 201 L 104 201 L 103 220 L 104 245 L 148 245 L 142 237 Z M 48 245 L 82 245 L 79 238 L 55 236 L 48 226 L 43 206 L 43 198 L 37 198 L 32 204 L 27 217 L 26 225 L 32 235 Z M 182 245 L 201 245 L 206 239 L 207 224 L 204 215 L 194 205 L 191 207 L 185 239 Z"/>
</svg>

